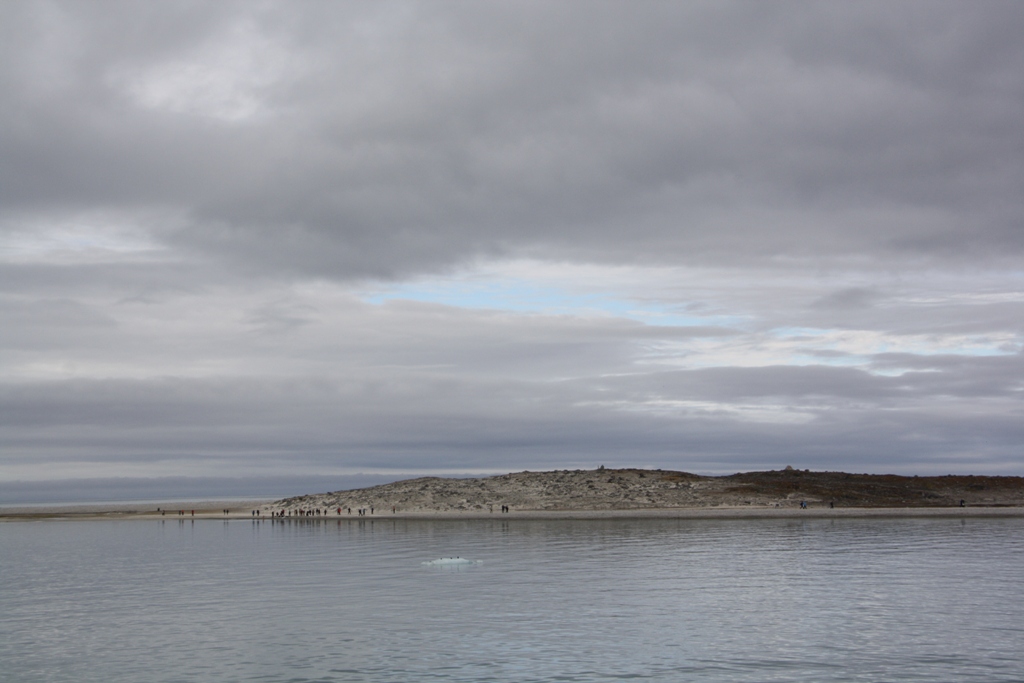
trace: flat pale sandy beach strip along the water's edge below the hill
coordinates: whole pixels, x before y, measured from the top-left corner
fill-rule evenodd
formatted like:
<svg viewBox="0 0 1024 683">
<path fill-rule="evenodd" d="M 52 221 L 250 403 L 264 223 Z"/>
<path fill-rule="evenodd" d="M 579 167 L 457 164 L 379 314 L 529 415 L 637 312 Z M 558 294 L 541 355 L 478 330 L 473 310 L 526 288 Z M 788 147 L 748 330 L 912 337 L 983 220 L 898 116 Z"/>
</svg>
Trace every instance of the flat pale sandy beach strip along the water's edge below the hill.
<svg viewBox="0 0 1024 683">
<path fill-rule="evenodd" d="M 357 515 L 331 511 L 327 515 L 307 517 L 270 517 L 266 512 L 268 501 L 241 503 L 230 501 L 197 501 L 195 503 L 146 504 L 91 504 L 67 506 L 0 507 L 0 521 L 33 520 L 96 520 L 96 519 L 221 519 L 254 521 L 254 510 L 262 514 L 261 521 L 278 523 L 310 523 L 327 521 L 385 521 L 385 520 L 557 520 L 557 519 L 851 519 L 851 518 L 916 518 L 916 517 L 1024 517 L 1024 507 L 942 507 L 942 508 L 828 508 L 797 507 L 699 507 L 699 508 L 636 508 L 624 510 L 512 510 L 508 513 L 486 510 L 467 511 L 396 511 L 379 510 L 376 514 Z M 157 508 L 160 508 L 158 511 Z M 225 514 L 225 510 L 228 512 Z M 183 511 L 183 514 L 179 514 Z"/>
</svg>

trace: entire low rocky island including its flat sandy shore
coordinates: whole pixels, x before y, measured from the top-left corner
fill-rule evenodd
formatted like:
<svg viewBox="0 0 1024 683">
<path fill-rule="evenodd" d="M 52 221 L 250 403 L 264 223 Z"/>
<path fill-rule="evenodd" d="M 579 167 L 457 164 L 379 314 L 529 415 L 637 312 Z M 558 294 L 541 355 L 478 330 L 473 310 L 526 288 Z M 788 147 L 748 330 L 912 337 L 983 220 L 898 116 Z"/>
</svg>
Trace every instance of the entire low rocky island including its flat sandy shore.
<svg viewBox="0 0 1024 683">
<path fill-rule="evenodd" d="M 480 478 L 421 477 L 280 501 L 0 507 L 0 521 L 33 519 L 290 520 L 390 518 L 1024 516 L 1024 477 L 767 472 L 701 476 L 650 469 L 515 472 Z"/>
</svg>

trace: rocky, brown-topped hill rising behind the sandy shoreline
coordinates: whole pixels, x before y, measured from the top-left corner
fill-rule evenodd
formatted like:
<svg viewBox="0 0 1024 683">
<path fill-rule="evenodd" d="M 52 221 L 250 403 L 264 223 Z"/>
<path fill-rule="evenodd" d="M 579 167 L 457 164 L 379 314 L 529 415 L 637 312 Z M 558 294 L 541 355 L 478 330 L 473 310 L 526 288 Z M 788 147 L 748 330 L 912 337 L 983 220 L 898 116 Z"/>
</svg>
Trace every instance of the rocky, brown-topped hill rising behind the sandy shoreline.
<svg viewBox="0 0 1024 683">
<path fill-rule="evenodd" d="M 266 510 L 376 508 L 401 512 L 631 510 L 712 506 L 837 507 L 1024 505 L 1024 477 L 899 476 L 810 470 L 700 476 L 642 469 L 516 472 L 477 479 L 422 477 L 278 501 Z"/>
</svg>

